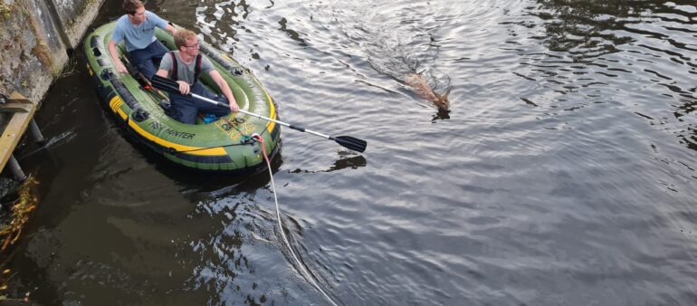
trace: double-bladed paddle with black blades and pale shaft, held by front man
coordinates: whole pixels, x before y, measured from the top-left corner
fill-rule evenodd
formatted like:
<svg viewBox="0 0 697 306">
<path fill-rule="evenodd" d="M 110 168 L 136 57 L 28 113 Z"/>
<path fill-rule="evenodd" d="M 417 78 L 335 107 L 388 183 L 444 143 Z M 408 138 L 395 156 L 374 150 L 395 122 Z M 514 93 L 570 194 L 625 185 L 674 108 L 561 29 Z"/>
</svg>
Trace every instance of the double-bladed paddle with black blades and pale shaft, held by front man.
<svg viewBox="0 0 697 306">
<path fill-rule="evenodd" d="M 169 92 L 169 93 L 181 94 L 181 91 L 179 91 L 179 84 L 177 83 L 177 81 L 173 81 L 173 80 L 171 80 L 171 79 L 163 78 L 163 77 L 161 77 L 161 76 L 155 74 L 155 75 L 152 76 L 152 79 L 150 80 L 150 82 L 152 83 L 152 86 L 155 87 L 155 88 L 157 88 L 158 90 L 167 91 L 167 92 Z M 196 99 L 198 99 L 198 100 L 203 100 L 203 101 L 206 101 L 206 102 L 208 102 L 208 103 L 215 104 L 215 105 L 220 106 L 220 107 L 224 107 L 224 108 L 229 108 L 229 107 L 230 107 L 229 105 L 227 105 L 227 104 L 225 104 L 225 103 L 218 102 L 218 101 L 215 101 L 215 100 L 210 100 L 210 99 L 208 99 L 208 98 L 201 97 L 201 96 L 199 96 L 199 95 L 197 95 L 197 94 L 195 94 L 195 93 L 189 93 L 189 94 L 187 94 L 187 96 L 194 97 L 194 98 L 196 98 Z M 290 123 L 285 123 L 285 122 L 282 122 L 282 121 L 279 121 L 279 120 L 272 120 L 271 118 L 263 117 L 263 116 L 261 116 L 261 115 L 257 115 L 257 114 L 255 114 L 255 113 L 250 112 L 250 111 L 247 111 L 247 110 L 240 110 L 240 112 L 242 112 L 242 113 L 244 113 L 244 114 L 247 114 L 247 115 L 250 115 L 250 116 L 253 116 L 253 117 L 256 117 L 256 118 L 259 118 L 259 119 L 269 120 L 269 121 L 272 121 L 272 122 L 276 122 L 276 123 L 278 123 L 278 124 L 281 124 L 282 126 L 286 126 L 286 127 L 288 127 L 288 128 L 291 128 L 291 129 L 299 130 L 299 131 L 301 131 L 301 132 L 308 132 L 308 133 L 310 133 L 310 134 L 320 136 L 321 138 L 325 138 L 325 139 L 329 139 L 329 140 L 334 140 L 334 141 L 336 141 L 339 145 L 343 146 L 344 148 L 352 149 L 352 150 L 357 151 L 357 152 L 361 152 L 361 153 L 364 152 L 364 151 L 366 150 L 366 147 L 368 146 L 368 142 L 366 142 L 366 140 L 363 140 L 363 139 L 357 139 L 357 138 L 350 137 L 350 136 L 329 136 L 329 135 L 324 135 L 324 134 L 318 133 L 318 132 L 313 131 L 313 130 L 310 130 L 310 129 L 305 129 L 305 128 L 301 127 L 301 126 L 293 125 L 293 124 L 290 124 Z"/>
</svg>

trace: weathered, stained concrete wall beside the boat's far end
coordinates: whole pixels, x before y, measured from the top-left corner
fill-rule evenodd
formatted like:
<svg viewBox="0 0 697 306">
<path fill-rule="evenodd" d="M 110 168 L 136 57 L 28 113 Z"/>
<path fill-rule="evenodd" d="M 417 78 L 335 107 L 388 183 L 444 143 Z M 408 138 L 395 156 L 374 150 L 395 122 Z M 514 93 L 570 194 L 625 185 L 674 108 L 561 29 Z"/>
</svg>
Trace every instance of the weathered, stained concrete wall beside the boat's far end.
<svg viewBox="0 0 697 306">
<path fill-rule="evenodd" d="M 0 93 L 42 100 L 102 1 L 0 0 Z"/>
</svg>

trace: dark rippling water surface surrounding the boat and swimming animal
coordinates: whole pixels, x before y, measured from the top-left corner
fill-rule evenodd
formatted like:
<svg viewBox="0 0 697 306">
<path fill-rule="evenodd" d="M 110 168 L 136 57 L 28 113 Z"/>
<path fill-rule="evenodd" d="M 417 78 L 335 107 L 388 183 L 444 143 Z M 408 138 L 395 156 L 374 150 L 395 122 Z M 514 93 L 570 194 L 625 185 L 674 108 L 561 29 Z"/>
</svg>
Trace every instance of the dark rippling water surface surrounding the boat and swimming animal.
<svg viewBox="0 0 697 306">
<path fill-rule="evenodd" d="M 95 24 L 119 12 L 107 4 Z M 348 305 L 697 305 L 693 1 L 182 1 L 263 81 L 291 244 Z M 267 174 L 202 177 L 124 138 L 84 60 L 21 162 L 42 202 L 10 263 L 42 304 L 326 304 Z M 406 87 L 422 72 L 439 113 Z"/>
</svg>

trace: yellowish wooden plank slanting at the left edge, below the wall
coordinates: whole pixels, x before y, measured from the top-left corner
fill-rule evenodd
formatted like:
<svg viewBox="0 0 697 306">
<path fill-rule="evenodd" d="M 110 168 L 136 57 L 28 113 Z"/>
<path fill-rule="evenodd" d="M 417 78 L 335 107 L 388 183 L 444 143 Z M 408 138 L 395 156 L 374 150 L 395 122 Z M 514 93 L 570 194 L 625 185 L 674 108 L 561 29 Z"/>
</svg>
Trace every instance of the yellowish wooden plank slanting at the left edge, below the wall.
<svg viewBox="0 0 697 306">
<path fill-rule="evenodd" d="M 24 112 L 14 112 L 12 119 L 7 123 L 3 135 L 0 136 L 0 169 L 4 169 L 7 165 L 7 160 L 12 156 L 14 148 L 17 147 L 19 139 L 22 139 L 26 127 L 33 119 L 33 113 L 36 111 L 36 104 L 30 100 L 26 100 L 24 96 L 17 92 L 10 95 L 7 104 L 23 105 Z"/>
</svg>

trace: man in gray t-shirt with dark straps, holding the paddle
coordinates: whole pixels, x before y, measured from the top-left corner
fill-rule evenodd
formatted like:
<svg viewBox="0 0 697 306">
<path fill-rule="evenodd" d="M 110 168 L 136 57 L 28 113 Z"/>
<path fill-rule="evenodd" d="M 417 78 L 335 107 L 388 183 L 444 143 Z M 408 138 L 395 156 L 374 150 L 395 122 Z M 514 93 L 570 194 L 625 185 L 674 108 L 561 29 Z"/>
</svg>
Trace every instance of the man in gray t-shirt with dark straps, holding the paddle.
<svg viewBox="0 0 697 306">
<path fill-rule="evenodd" d="M 199 44 L 196 33 L 186 29 L 178 30 L 177 34 L 175 34 L 175 44 L 178 51 L 165 54 L 157 72 L 161 77 L 177 81 L 179 91 L 182 93 L 169 95 L 173 108 L 172 118 L 184 123 L 195 124 L 196 114 L 199 111 L 213 113 L 216 116 L 224 116 L 230 113 L 230 111 L 238 111 L 239 107 L 234 100 L 233 91 L 230 91 L 227 82 L 224 81 L 220 72 L 215 70 L 213 63 L 198 53 Z M 175 69 L 175 66 L 177 69 Z M 223 92 L 224 97 L 204 88 L 201 82 L 198 81 L 198 75 L 201 73 L 207 73 L 211 76 L 211 79 L 215 81 L 220 91 Z M 230 109 L 227 110 L 193 97 L 184 96 L 189 92 L 229 104 Z"/>
</svg>

